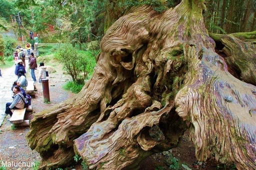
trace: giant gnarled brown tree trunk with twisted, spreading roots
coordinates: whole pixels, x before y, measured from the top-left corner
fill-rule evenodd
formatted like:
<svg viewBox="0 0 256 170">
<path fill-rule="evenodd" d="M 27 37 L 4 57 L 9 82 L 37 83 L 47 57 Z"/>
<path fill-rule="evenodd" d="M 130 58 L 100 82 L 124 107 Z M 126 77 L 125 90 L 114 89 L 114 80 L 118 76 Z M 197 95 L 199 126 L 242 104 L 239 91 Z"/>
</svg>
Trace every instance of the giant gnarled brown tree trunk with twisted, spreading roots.
<svg viewBox="0 0 256 170">
<path fill-rule="evenodd" d="M 27 139 L 41 169 L 64 167 L 74 154 L 89 168 L 135 168 L 175 147 L 187 128 L 198 160 L 255 169 L 256 56 L 244 40 L 256 32 L 211 38 L 204 8 L 183 0 L 161 14 L 142 6 L 119 18 L 83 89 L 31 121 Z"/>
</svg>

